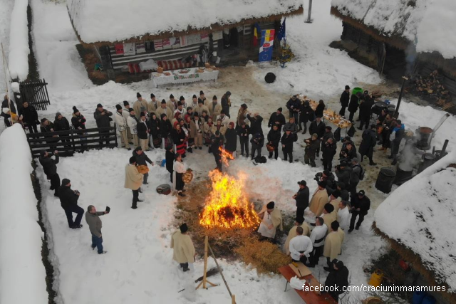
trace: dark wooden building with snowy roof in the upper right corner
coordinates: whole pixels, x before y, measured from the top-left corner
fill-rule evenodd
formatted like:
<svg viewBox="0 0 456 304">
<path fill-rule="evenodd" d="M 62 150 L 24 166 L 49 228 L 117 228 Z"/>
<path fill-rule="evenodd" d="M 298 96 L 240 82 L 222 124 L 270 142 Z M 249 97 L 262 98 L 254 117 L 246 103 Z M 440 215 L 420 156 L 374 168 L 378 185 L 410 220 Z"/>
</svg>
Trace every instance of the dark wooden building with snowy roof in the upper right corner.
<svg viewBox="0 0 456 304">
<path fill-rule="evenodd" d="M 439 70 L 456 94 L 456 1 L 332 0 L 342 20 L 343 47 L 391 78 Z"/>
</svg>

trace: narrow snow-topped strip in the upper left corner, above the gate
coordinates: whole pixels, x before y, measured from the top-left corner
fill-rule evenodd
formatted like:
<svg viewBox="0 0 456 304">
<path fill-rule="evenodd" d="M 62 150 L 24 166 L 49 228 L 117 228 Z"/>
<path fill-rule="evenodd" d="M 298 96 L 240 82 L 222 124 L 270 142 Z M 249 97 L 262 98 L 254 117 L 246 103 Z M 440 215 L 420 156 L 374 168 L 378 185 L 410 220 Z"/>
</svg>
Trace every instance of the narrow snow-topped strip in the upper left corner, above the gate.
<svg viewBox="0 0 456 304">
<path fill-rule="evenodd" d="M 16 0 L 11 12 L 13 24 L 9 33 L 9 71 L 12 79 L 26 80 L 28 75 L 30 48 L 28 48 L 27 6 L 28 0 Z"/>
</svg>

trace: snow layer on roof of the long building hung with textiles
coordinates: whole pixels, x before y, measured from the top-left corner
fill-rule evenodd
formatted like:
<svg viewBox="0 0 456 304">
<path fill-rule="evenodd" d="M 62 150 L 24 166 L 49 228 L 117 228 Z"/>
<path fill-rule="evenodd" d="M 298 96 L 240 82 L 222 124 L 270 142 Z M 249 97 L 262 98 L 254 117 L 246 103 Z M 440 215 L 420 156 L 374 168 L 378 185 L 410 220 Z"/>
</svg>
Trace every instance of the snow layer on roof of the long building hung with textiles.
<svg viewBox="0 0 456 304">
<path fill-rule="evenodd" d="M 302 0 L 67 1 L 73 26 L 85 43 L 235 24 L 290 14 L 302 5 Z"/>
</svg>

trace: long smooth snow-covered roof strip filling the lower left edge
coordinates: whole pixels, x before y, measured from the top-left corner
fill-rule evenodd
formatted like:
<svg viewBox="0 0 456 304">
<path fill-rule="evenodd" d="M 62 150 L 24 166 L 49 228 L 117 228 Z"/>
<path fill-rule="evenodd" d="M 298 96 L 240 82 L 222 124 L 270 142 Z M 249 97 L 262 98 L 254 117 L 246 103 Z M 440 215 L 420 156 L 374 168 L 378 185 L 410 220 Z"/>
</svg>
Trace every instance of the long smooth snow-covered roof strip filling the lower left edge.
<svg viewBox="0 0 456 304">
<path fill-rule="evenodd" d="M 47 303 L 31 153 L 21 125 L 0 135 L 0 303 Z"/>
</svg>

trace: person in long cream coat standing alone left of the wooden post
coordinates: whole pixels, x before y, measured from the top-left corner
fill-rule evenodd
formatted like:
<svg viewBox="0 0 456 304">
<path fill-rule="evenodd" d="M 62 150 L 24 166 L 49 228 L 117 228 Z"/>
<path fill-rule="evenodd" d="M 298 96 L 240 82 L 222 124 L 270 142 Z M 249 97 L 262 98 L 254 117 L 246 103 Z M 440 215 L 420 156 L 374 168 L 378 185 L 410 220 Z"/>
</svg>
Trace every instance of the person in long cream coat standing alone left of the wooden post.
<svg viewBox="0 0 456 304">
<path fill-rule="evenodd" d="M 187 224 L 182 224 L 179 230 L 175 231 L 171 236 L 172 259 L 179 263 L 182 271 L 193 270 L 193 263 L 195 263 L 195 246 L 193 246 L 192 239 L 187 234 Z"/>
</svg>

